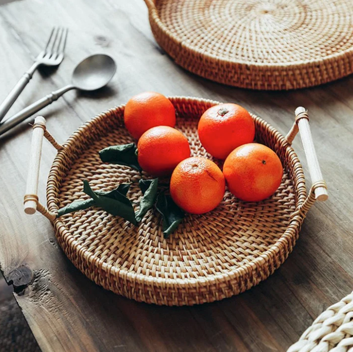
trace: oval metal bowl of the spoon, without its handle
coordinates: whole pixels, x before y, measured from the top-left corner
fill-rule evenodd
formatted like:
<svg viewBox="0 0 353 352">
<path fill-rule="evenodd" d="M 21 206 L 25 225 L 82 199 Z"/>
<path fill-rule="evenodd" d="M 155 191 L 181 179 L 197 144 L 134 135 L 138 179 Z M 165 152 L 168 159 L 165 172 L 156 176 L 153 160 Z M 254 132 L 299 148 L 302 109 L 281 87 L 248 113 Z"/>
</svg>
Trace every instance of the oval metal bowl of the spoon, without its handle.
<svg viewBox="0 0 353 352">
<path fill-rule="evenodd" d="M 106 54 L 94 54 L 81 61 L 72 73 L 72 84 L 79 90 L 95 91 L 114 76 L 116 64 Z"/>
</svg>

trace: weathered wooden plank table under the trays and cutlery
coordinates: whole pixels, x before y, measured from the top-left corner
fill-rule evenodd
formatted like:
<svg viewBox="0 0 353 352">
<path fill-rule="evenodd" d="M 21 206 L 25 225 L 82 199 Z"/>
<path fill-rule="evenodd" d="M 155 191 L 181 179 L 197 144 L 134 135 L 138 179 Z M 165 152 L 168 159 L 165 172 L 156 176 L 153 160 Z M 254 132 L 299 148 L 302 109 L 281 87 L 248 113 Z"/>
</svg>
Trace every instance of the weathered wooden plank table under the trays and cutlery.
<svg viewBox="0 0 353 352">
<path fill-rule="evenodd" d="M 86 55 L 105 52 L 118 64 L 108 88 L 95 94 L 67 93 L 42 111 L 59 142 L 95 114 L 147 90 L 236 102 L 284 134 L 295 107 L 303 105 L 309 110 L 330 198 L 311 209 L 284 265 L 244 294 L 194 307 L 137 303 L 87 279 L 58 247 L 50 223 L 40 214 L 23 213 L 32 134 L 23 123 L 0 138 L 0 263 L 8 281 L 22 265 L 34 275 L 14 295 L 42 350 L 286 350 L 322 310 L 353 288 L 352 77 L 294 92 L 227 87 L 173 63 L 151 34 L 142 0 L 23 0 L 0 7 L 0 99 L 30 67 L 31 54 L 41 50 L 53 25 L 69 27 L 65 60 L 57 71 L 36 73 L 9 114 L 67 84 Z M 293 145 L 308 174 L 300 138 Z M 42 200 L 54 156 L 45 143 Z"/>
</svg>

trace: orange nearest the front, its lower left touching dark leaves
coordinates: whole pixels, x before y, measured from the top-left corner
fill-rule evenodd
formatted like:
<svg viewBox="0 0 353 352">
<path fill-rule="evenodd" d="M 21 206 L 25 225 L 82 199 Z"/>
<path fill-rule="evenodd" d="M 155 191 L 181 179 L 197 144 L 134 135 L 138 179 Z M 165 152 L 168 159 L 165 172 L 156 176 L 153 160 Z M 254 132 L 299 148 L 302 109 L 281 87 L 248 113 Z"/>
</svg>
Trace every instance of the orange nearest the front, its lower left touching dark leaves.
<svg viewBox="0 0 353 352">
<path fill-rule="evenodd" d="M 181 209 L 192 214 L 213 210 L 222 201 L 226 182 L 220 168 L 211 160 L 193 157 L 174 169 L 170 194 Z"/>
</svg>

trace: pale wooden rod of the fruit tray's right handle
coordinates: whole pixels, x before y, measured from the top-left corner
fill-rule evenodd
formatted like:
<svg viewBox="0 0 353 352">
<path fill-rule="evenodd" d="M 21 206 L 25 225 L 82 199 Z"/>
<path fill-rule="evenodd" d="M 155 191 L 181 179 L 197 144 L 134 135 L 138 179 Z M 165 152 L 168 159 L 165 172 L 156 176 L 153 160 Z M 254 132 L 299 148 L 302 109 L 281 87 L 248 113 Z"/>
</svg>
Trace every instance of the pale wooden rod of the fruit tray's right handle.
<svg viewBox="0 0 353 352">
<path fill-rule="evenodd" d="M 295 109 L 295 122 L 298 126 L 302 143 L 304 147 L 305 156 L 309 167 L 309 173 L 311 182 L 315 187 L 315 198 L 316 200 L 324 201 L 328 199 L 329 195 L 327 187 L 322 177 L 319 161 L 317 160 L 315 146 L 309 126 L 309 117 L 307 110 L 300 106 Z"/>
</svg>

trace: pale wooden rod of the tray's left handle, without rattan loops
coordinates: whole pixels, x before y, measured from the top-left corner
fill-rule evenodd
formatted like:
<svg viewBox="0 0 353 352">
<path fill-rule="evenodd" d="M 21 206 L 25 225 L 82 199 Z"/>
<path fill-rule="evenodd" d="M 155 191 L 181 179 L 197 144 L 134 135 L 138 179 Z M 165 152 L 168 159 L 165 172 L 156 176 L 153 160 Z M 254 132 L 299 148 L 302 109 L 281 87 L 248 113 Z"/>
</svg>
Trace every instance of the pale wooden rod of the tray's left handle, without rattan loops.
<svg viewBox="0 0 353 352">
<path fill-rule="evenodd" d="M 30 155 L 30 169 L 28 173 L 26 192 L 24 196 L 24 212 L 34 214 L 38 205 L 39 166 L 42 154 L 42 143 L 45 130 L 45 119 L 37 116 L 34 120 L 32 146 Z"/>
</svg>

